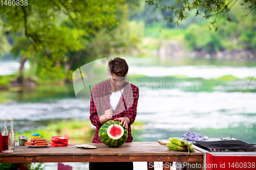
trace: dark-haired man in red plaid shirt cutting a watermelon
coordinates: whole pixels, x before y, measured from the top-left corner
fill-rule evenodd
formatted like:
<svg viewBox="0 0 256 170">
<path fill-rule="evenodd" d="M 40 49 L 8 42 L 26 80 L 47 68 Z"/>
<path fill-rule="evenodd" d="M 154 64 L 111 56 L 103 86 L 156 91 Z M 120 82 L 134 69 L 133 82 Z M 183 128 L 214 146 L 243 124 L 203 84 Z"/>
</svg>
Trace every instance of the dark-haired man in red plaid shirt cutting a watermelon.
<svg viewBox="0 0 256 170">
<path fill-rule="evenodd" d="M 139 88 L 126 82 L 129 66 L 120 57 L 111 59 L 106 74 L 110 80 L 96 84 L 92 88 L 90 120 L 96 127 L 93 143 L 101 143 L 99 129 L 110 119 L 118 120 L 127 129 L 126 142 L 132 142 L 131 125 L 137 115 Z M 133 169 L 133 162 L 90 162 L 89 169 Z"/>
</svg>

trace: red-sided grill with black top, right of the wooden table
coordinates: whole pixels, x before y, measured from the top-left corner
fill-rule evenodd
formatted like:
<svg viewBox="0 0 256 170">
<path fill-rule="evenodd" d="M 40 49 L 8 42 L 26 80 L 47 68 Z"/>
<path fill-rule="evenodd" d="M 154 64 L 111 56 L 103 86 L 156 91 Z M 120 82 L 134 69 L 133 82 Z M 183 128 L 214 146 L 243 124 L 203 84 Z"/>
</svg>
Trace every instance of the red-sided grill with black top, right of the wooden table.
<svg viewBox="0 0 256 170">
<path fill-rule="evenodd" d="M 216 140 L 217 138 L 215 138 Z M 256 147 L 241 140 L 193 141 L 194 148 L 203 153 L 203 170 L 247 170 L 255 165 Z M 210 165 L 210 167 L 209 167 Z M 239 165 L 239 168 L 237 166 Z M 251 166 L 252 168 L 252 166 Z M 255 166 L 253 166 L 255 169 Z"/>
</svg>

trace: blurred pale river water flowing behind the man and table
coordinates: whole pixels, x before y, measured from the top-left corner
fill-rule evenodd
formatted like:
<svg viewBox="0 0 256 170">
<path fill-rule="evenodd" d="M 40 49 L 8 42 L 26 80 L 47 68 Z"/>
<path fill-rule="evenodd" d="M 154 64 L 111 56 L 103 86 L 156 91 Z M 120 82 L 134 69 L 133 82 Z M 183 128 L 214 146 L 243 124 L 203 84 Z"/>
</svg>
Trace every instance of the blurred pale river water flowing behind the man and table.
<svg viewBox="0 0 256 170">
<path fill-rule="evenodd" d="M 256 143 L 256 81 L 244 79 L 256 74 L 255 60 L 125 59 L 127 77 L 140 90 L 136 121 L 145 123 L 134 141 L 196 132 Z M 13 74 L 16 65 L 0 61 L 0 75 Z M 226 75 L 238 79 L 220 79 Z M 23 93 L 0 91 L 0 96 L 12 100 L 0 104 L 0 119 L 14 118 L 17 132 L 44 128 L 51 119 L 88 119 L 90 115 L 89 99 L 76 99 L 72 84 L 39 86 Z M 135 169 L 142 165 L 135 164 Z M 51 166 L 56 164 L 46 169 Z M 72 166 L 83 169 L 81 163 Z"/>
</svg>

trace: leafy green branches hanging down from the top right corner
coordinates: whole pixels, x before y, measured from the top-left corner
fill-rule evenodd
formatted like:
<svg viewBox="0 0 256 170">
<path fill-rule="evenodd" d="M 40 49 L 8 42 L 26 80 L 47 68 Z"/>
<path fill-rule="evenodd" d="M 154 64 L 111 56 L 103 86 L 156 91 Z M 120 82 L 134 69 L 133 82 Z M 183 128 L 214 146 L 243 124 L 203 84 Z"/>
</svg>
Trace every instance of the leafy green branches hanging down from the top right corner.
<svg viewBox="0 0 256 170">
<path fill-rule="evenodd" d="M 177 26 L 179 26 L 179 22 L 189 15 L 189 11 L 195 10 L 195 16 L 203 14 L 205 19 L 214 18 L 210 22 L 209 29 L 215 28 L 216 31 L 218 30 L 217 25 L 221 18 L 232 21 L 229 11 L 234 4 L 240 3 L 241 9 L 245 10 L 240 21 L 245 20 L 251 12 L 255 13 L 256 9 L 255 0 L 177 0 L 175 5 L 161 5 L 162 0 L 146 0 L 145 2 L 146 5 L 153 5 L 154 11 L 159 8 L 162 13 L 167 12 L 168 15 L 164 19 L 168 22 L 173 22 Z M 175 13 L 176 18 L 169 16 L 173 13 Z"/>
</svg>

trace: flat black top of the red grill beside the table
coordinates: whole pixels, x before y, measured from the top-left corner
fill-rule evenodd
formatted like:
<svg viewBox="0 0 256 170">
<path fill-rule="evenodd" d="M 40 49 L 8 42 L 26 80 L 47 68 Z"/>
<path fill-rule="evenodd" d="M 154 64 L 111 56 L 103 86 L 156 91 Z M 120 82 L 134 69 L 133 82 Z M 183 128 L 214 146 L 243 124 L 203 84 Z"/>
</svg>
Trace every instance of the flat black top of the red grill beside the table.
<svg viewBox="0 0 256 170">
<path fill-rule="evenodd" d="M 221 141 L 193 141 L 193 143 L 203 149 L 233 150 L 233 149 L 252 149 L 254 146 L 241 140 L 221 140 Z"/>
</svg>

